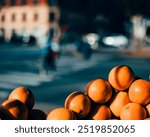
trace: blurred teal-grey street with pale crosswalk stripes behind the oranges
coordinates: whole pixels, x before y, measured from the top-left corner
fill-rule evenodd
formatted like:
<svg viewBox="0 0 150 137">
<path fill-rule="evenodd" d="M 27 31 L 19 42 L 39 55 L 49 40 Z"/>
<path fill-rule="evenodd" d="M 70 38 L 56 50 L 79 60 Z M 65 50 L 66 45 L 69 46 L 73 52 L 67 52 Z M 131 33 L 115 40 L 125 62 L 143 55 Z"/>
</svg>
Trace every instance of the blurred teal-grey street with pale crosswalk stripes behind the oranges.
<svg viewBox="0 0 150 137">
<path fill-rule="evenodd" d="M 150 75 L 150 58 L 131 57 L 122 52 L 93 53 L 85 61 L 74 54 L 61 54 L 57 70 L 40 75 L 42 51 L 37 48 L 0 49 L 0 101 L 7 99 L 16 87 L 30 88 L 36 98 L 35 108 L 48 112 L 63 107 L 65 98 L 73 91 L 84 92 L 86 84 L 96 78 L 107 79 L 116 65 L 129 65 L 136 76 L 146 80 Z"/>
</svg>

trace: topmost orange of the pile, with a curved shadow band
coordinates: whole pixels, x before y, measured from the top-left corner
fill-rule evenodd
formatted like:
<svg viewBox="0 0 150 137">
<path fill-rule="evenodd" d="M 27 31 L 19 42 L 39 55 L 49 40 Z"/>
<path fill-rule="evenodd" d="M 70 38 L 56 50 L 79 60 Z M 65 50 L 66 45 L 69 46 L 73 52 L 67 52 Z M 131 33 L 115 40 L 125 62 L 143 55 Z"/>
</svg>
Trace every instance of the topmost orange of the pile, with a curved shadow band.
<svg viewBox="0 0 150 137">
<path fill-rule="evenodd" d="M 132 69 L 127 65 L 116 66 L 112 68 L 108 75 L 108 81 L 116 90 L 126 90 L 135 80 Z"/>
</svg>

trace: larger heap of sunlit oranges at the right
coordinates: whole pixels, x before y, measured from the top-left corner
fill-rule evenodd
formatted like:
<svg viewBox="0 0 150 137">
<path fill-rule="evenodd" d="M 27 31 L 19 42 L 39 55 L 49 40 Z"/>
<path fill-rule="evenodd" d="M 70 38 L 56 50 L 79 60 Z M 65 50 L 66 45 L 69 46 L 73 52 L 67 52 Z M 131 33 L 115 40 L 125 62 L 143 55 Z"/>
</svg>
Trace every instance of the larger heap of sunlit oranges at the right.
<svg viewBox="0 0 150 137">
<path fill-rule="evenodd" d="M 59 109 L 50 111 L 47 119 L 62 119 L 57 117 L 61 113 L 67 120 L 68 114 L 61 109 L 73 112 L 74 119 L 150 119 L 150 82 L 138 79 L 127 65 L 115 66 L 110 70 L 108 80 L 91 80 L 85 92 L 72 92 L 65 99 L 64 108 Z"/>
</svg>

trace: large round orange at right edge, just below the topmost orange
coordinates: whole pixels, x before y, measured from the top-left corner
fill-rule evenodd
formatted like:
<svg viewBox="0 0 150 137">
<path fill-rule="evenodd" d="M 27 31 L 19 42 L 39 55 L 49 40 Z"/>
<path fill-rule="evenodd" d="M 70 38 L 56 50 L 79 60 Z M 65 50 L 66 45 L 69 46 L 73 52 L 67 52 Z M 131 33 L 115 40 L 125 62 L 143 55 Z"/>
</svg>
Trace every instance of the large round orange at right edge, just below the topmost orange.
<svg viewBox="0 0 150 137">
<path fill-rule="evenodd" d="M 150 102 L 150 83 L 143 79 L 134 81 L 129 88 L 129 99 L 142 105 L 148 104 Z"/>
</svg>

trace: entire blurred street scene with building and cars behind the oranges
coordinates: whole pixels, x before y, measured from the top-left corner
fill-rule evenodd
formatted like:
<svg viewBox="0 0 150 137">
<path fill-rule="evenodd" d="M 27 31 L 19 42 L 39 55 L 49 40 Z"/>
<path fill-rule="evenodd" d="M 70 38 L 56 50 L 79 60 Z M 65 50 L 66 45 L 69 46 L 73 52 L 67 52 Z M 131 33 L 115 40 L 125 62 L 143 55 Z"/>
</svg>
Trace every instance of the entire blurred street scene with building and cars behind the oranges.
<svg viewBox="0 0 150 137">
<path fill-rule="evenodd" d="M 0 0 L 0 102 L 30 88 L 35 107 L 62 107 L 116 65 L 150 75 L 149 0 Z"/>
</svg>

